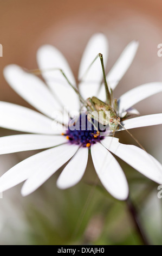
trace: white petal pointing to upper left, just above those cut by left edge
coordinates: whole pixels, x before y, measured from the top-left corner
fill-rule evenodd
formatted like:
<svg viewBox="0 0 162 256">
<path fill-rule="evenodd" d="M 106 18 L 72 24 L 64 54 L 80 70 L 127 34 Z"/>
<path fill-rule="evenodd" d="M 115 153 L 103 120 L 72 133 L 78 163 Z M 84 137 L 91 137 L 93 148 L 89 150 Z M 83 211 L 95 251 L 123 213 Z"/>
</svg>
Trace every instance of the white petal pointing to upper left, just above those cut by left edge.
<svg viewBox="0 0 162 256">
<path fill-rule="evenodd" d="M 61 110 L 43 81 L 37 76 L 25 72 L 20 66 L 14 64 L 7 66 L 4 69 L 4 77 L 24 100 L 48 117 L 52 118 L 56 110 Z"/>
</svg>

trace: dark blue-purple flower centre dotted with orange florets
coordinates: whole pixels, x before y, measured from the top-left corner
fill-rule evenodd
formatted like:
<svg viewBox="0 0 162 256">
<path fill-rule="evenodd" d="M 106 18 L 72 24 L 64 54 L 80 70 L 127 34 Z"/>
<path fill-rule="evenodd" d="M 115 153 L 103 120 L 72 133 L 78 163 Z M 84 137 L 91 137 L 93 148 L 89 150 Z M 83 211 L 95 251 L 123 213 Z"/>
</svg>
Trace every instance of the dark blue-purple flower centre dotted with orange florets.
<svg viewBox="0 0 162 256">
<path fill-rule="evenodd" d="M 92 121 L 94 121 L 92 119 Z M 99 125 L 95 126 L 98 127 Z M 101 141 L 104 137 L 100 135 L 100 127 L 98 131 L 92 123 L 87 120 L 86 114 L 81 114 L 77 119 L 69 121 L 68 130 L 64 133 L 67 136 L 69 143 L 82 145 L 82 147 L 90 147 L 90 145 Z"/>
</svg>

